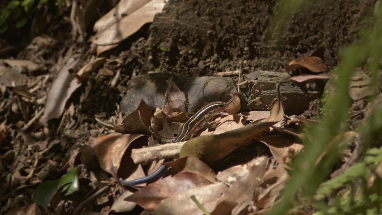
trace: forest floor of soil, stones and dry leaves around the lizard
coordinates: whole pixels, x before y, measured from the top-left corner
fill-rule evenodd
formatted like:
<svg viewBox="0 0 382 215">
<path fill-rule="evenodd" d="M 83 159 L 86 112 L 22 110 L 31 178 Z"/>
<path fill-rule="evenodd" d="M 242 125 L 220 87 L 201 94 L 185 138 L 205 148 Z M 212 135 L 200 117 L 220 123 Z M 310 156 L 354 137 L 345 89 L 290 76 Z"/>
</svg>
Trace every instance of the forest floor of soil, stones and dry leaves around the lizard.
<svg viewBox="0 0 382 215">
<path fill-rule="evenodd" d="M 328 112 L 324 105 L 333 83 L 329 78 L 335 77 L 341 66 L 343 47 L 358 42 L 362 30 L 371 28 L 379 5 L 376 2 L 307 1 L 296 8 L 286 4 L 281 6 L 292 7 L 293 15 L 283 16 L 275 9 L 280 3 L 274 0 L 169 0 L 152 23 L 143 23 L 127 39 L 107 46 L 91 36 L 98 36 L 93 32 L 94 23 L 117 5 L 115 1 L 102 6 L 94 3 L 95 13 L 85 3 L 82 8 L 77 5 L 78 10 L 87 8 L 90 12 L 84 13 L 84 31 L 74 31 L 76 37 L 71 3 L 57 14 L 53 5 L 38 7 L 23 28 L 9 28 L 0 34 L 0 214 L 202 214 L 192 202 L 182 200 L 192 201 L 188 197 L 191 194 L 186 193 L 192 189 L 201 204 L 214 211 L 212 214 L 266 213 L 287 184 L 289 175 L 284 167 L 303 150 L 304 126 L 317 123 Z M 308 66 L 300 62 L 288 69 L 300 57 L 319 60 Z M 365 112 L 368 98 L 380 97 L 380 88 L 371 86 L 370 76 L 364 66 L 351 78 L 351 86 L 358 90 L 349 90 L 352 105 L 345 110 L 351 116 L 345 133 L 349 148 L 326 173 L 325 180 L 342 174 L 358 159 L 352 156 L 358 149 L 357 141 L 352 141 L 355 134 L 349 132 L 369 116 Z M 280 96 L 276 93 L 278 82 Z M 157 131 L 163 129 L 163 135 L 178 134 L 176 122 L 185 122 L 206 102 L 227 102 L 230 94 L 238 91 L 242 100 L 240 120 L 235 116 L 216 120 L 244 124 L 222 123 L 218 128 L 241 129 L 264 118 L 275 123 L 256 130 L 259 135 L 233 141 L 232 150 L 219 151 L 218 155 L 203 152 L 205 155 L 198 158 L 207 167 L 191 170 L 185 167 L 187 162 L 206 164 L 193 158 L 178 159 L 179 163 L 170 165 L 174 176 L 157 184 L 162 190 L 168 189 L 167 194 L 155 192 L 150 185 L 126 188 L 119 184 L 119 178 L 133 173 L 139 178 L 160 164 L 150 160 L 140 161 L 148 164 L 138 166 L 130 158 L 132 148 L 152 146 L 157 140 L 166 142 L 148 125 Z M 173 125 L 170 130 L 165 130 L 166 122 L 157 108 L 171 116 L 167 119 Z M 277 118 L 269 112 L 271 108 L 286 117 Z M 133 116 L 135 110 L 140 111 L 139 116 Z M 177 115 L 182 111 L 184 115 Z M 143 124 L 147 126 L 141 127 Z M 202 135 L 219 134 L 210 130 Z M 138 136 L 126 136 L 131 133 Z M 118 141 L 123 145 L 120 148 Z M 277 142 L 283 143 L 275 146 Z M 128 165 L 133 167 L 126 168 Z M 176 165 L 183 165 L 181 169 L 187 174 L 175 174 Z M 234 171 L 235 167 L 238 169 Z M 272 181 L 270 175 L 277 180 Z M 249 183 L 255 176 L 260 184 Z M 235 185 L 232 177 L 244 181 L 245 186 Z M 178 184 L 168 181 L 170 178 Z M 192 183 L 187 184 L 185 178 Z M 36 194 L 40 184 L 54 180 L 40 187 L 46 193 Z M 71 185 L 75 181 L 79 186 Z M 95 196 L 99 190 L 102 192 Z M 202 194 L 207 197 L 202 198 Z M 129 201 L 124 200 L 128 196 Z M 167 198 L 172 201 L 165 202 Z M 330 198 L 320 200 L 330 202 Z M 33 204 L 36 201 L 45 203 L 39 207 Z M 298 208 L 295 214 L 318 210 L 301 199 L 293 200 L 293 204 Z"/>
</svg>

